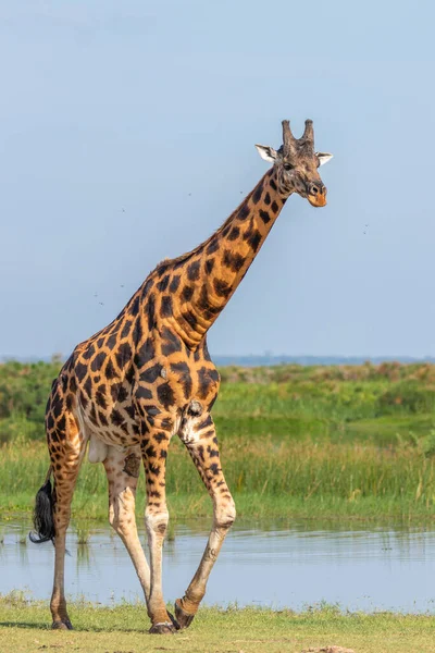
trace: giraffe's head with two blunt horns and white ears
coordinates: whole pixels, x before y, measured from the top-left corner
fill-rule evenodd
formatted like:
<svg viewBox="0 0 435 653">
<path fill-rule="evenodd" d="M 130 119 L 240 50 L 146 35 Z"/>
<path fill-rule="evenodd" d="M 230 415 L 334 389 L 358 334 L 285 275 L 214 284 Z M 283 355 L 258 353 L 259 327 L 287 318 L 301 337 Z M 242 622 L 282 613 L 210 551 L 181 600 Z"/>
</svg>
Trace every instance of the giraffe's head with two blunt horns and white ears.
<svg viewBox="0 0 435 653">
<path fill-rule="evenodd" d="M 297 193 L 313 207 L 325 206 L 326 186 L 320 178 L 318 168 L 330 161 L 333 155 L 314 150 L 312 120 L 306 120 L 301 138 L 295 138 L 289 121 L 283 120 L 283 145 L 277 151 L 265 145 L 256 147 L 262 159 L 274 164 L 278 192 L 283 197 Z"/>
</svg>

